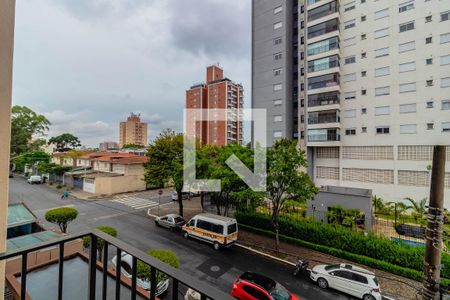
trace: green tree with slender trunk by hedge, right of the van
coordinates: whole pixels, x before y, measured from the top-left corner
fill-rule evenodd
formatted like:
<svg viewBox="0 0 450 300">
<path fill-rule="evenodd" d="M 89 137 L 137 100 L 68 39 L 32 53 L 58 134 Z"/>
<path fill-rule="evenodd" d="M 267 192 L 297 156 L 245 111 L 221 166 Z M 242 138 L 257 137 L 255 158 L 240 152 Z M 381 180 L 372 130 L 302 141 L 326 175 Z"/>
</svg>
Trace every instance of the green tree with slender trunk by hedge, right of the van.
<svg viewBox="0 0 450 300">
<path fill-rule="evenodd" d="M 267 151 L 267 196 L 272 200 L 271 222 L 276 235 L 278 250 L 278 218 L 288 199 L 311 199 L 318 189 L 302 169 L 307 167 L 305 153 L 297 149 L 297 143 L 288 139 L 275 142 Z"/>
</svg>

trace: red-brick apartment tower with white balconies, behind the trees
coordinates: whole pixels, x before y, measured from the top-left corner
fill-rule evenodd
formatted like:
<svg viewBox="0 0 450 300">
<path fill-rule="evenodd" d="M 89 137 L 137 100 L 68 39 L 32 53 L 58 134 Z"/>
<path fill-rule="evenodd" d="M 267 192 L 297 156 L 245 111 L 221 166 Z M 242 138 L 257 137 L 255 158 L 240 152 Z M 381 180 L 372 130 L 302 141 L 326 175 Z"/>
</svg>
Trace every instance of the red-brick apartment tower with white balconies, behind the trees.
<svg viewBox="0 0 450 300">
<path fill-rule="evenodd" d="M 223 77 L 223 70 L 213 65 L 206 68 L 206 82 L 191 86 L 186 91 L 186 109 L 207 109 L 207 115 L 198 115 L 197 122 L 193 115 L 186 114 L 186 135 L 197 138 L 201 144 L 227 145 L 242 144 L 244 107 L 244 89 L 241 84 Z M 213 120 L 214 110 L 226 112 L 227 120 Z M 208 117 L 210 117 L 208 119 Z M 220 117 L 220 113 L 218 113 Z M 223 115 L 225 118 L 225 115 Z"/>
</svg>

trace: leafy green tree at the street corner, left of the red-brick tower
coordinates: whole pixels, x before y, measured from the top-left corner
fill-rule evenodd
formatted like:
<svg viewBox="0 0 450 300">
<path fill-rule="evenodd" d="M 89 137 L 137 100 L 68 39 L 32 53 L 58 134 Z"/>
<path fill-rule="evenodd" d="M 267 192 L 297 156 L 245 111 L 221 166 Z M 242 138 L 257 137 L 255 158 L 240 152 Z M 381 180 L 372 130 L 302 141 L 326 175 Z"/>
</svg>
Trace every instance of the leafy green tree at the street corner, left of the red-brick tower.
<svg viewBox="0 0 450 300">
<path fill-rule="evenodd" d="M 172 182 L 178 193 L 178 210 L 183 215 L 183 134 L 164 130 L 147 149 L 145 182 L 163 187 Z"/>
</svg>

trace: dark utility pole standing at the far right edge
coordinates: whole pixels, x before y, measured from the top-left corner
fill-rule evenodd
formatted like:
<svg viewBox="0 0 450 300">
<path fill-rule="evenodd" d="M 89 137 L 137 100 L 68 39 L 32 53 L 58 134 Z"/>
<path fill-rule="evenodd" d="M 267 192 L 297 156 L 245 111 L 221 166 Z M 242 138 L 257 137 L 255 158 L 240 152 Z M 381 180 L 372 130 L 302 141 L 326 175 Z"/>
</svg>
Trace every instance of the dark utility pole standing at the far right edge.
<svg viewBox="0 0 450 300">
<path fill-rule="evenodd" d="M 434 146 L 428 206 L 422 299 L 439 299 L 444 223 L 445 146 Z"/>
</svg>

